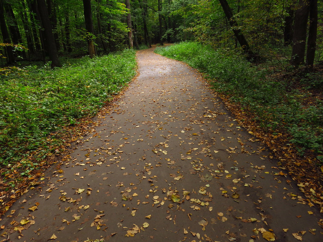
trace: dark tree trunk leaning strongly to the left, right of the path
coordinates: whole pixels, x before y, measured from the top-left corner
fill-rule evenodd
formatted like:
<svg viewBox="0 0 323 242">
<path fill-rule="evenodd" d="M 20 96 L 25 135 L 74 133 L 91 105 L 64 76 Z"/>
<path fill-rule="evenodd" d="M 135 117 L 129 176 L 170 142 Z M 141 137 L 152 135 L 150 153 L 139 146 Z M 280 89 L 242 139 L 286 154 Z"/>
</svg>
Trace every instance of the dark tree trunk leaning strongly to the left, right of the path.
<svg viewBox="0 0 323 242">
<path fill-rule="evenodd" d="M 248 55 L 248 59 L 255 58 L 255 54 L 251 51 L 249 44 L 248 44 L 247 40 L 245 39 L 245 36 L 241 33 L 241 30 L 239 28 L 235 28 L 235 27 L 238 27 L 239 25 L 238 25 L 237 21 L 234 19 L 232 10 L 231 10 L 228 2 L 226 0 L 219 0 L 219 2 L 223 8 L 226 18 L 229 20 L 229 24 L 232 27 L 232 31 L 234 33 L 234 36 L 237 38 L 243 52 Z"/>
</svg>

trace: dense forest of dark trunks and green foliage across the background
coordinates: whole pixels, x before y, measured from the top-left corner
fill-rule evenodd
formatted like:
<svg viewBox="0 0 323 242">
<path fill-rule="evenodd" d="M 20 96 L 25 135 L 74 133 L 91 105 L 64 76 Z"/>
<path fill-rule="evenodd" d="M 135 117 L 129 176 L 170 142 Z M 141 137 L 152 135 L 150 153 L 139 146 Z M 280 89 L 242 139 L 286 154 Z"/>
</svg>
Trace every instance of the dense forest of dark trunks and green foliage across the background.
<svg viewBox="0 0 323 242">
<path fill-rule="evenodd" d="M 68 53 L 196 40 L 311 69 L 322 54 L 322 10 L 317 0 L 0 0 L 0 55 L 60 66 Z"/>
</svg>

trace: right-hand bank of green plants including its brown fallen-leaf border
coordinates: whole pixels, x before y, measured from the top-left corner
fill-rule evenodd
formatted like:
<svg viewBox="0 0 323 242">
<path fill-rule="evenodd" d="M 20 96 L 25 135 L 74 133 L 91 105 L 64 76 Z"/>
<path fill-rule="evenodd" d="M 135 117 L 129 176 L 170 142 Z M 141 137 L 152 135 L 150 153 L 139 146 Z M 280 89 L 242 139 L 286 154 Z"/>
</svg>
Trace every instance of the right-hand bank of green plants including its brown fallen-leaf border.
<svg viewBox="0 0 323 242">
<path fill-rule="evenodd" d="M 322 72 L 275 73 L 270 63 L 253 65 L 232 50 L 214 50 L 195 42 L 157 47 L 155 53 L 203 72 L 231 111 L 276 153 L 278 165 L 287 166 L 300 184 L 320 183 Z"/>
</svg>

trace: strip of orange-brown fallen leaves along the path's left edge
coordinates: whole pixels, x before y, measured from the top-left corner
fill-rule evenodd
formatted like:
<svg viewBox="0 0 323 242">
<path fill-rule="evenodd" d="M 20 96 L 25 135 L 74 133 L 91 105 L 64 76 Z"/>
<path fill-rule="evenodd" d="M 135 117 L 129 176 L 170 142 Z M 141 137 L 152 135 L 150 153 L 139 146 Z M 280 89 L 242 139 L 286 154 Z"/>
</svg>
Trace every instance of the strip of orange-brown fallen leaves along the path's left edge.
<svg viewBox="0 0 323 242">
<path fill-rule="evenodd" d="M 133 82 L 138 75 L 139 73 L 137 70 L 137 75 L 133 77 L 128 84 Z M 100 126 L 100 118 L 103 118 L 106 113 L 109 113 L 118 105 L 118 99 L 124 94 L 128 87 L 129 85 L 124 86 L 117 95 L 113 96 L 113 98 L 96 113 L 95 117 L 87 116 L 79 118 L 74 126 L 64 127 L 64 130 L 67 132 L 60 132 L 59 134 L 57 132 L 56 134 L 53 134 L 56 135 L 56 138 L 63 139 L 64 142 L 59 146 L 54 147 L 56 151 L 55 154 L 46 154 L 46 158 L 41 162 L 38 162 L 39 165 L 37 165 L 34 170 L 30 171 L 28 176 L 21 176 L 18 170 L 12 170 L 12 172 L 8 173 L 9 176 L 11 176 L 11 179 L 16 181 L 15 187 L 11 187 L 9 181 L 4 181 L 0 176 L 0 220 L 1 216 L 10 209 L 19 197 L 28 192 L 29 189 L 34 189 L 34 186 L 44 183 L 41 181 L 39 182 L 38 179 L 44 175 L 44 172 L 48 168 L 55 164 L 56 169 L 60 168 L 63 164 L 62 158 L 73 151 L 73 142 L 77 141 L 79 144 L 83 143 L 79 142 L 80 138 L 92 134 L 92 132 L 95 131 L 95 127 Z M 73 134 L 73 136 L 70 134 Z M 25 160 L 30 163 L 36 163 L 37 152 L 38 151 L 31 152 Z M 20 162 L 17 162 L 18 166 L 19 163 Z"/>
</svg>

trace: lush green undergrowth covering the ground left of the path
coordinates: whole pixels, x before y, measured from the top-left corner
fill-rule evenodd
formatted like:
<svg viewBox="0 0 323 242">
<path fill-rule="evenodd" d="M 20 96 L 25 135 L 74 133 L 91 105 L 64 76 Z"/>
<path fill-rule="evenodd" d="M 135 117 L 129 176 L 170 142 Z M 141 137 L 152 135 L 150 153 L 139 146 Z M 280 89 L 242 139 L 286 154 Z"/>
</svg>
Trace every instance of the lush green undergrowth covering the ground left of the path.
<svg viewBox="0 0 323 242">
<path fill-rule="evenodd" d="M 68 59 L 62 68 L 27 66 L 0 76 L 0 165 L 11 166 L 39 148 L 46 154 L 50 133 L 95 115 L 136 75 L 135 69 L 135 51 L 127 49 Z M 36 165 L 26 165 L 21 175 Z"/>
</svg>

